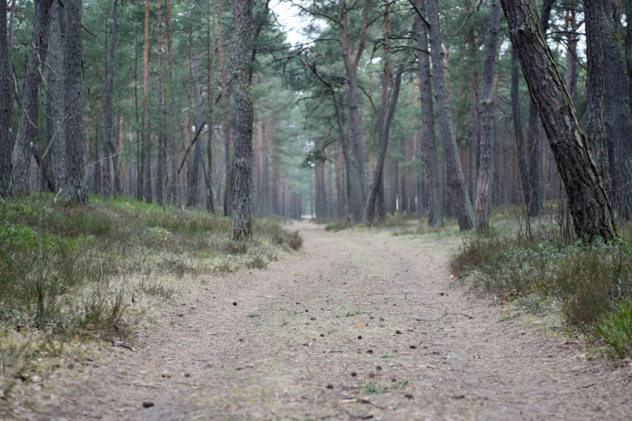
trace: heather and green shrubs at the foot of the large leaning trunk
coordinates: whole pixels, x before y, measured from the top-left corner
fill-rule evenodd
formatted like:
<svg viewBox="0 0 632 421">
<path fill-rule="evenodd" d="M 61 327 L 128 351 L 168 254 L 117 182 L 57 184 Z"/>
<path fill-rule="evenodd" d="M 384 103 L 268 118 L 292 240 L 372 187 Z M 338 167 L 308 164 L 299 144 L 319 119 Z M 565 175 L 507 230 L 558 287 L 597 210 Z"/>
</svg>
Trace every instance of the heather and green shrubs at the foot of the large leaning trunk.
<svg viewBox="0 0 632 421">
<path fill-rule="evenodd" d="M 451 269 L 477 288 L 508 296 L 536 295 L 561 303 L 569 326 L 632 357 L 632 229 L 620 238 L 564 241 L 491 229 L 470 235 L 451 259 Z"/>
</svg>

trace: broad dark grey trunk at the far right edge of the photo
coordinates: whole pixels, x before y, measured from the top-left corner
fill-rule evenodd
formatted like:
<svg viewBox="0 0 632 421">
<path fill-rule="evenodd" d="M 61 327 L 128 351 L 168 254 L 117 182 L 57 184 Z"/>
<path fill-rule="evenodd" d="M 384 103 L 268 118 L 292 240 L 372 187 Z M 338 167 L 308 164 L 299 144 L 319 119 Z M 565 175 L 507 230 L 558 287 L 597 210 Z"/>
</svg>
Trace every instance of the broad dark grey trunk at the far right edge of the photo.
<svg viewBox="0 0 632 421">
<path fill-rule="evenodd" d="M 626 61 L 609 9 L 610 2 L 606 0 L 602 15 L 605 138 L 610 156 L 612 197 L 618 216 L 628 221 L 632 217 L 632 112 Z"/>
</svg>

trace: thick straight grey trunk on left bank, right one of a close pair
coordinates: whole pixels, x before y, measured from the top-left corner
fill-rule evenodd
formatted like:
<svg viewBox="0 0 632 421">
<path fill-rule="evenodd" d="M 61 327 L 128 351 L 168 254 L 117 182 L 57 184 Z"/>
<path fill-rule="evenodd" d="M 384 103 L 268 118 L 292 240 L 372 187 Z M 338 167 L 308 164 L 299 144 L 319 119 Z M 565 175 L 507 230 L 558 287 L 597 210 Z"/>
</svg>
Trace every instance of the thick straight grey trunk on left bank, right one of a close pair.
<svg viewBox="0 0 632 421">
<path fill-rule="evenodd" d="M 73 204 L 88 204 L 85 176 L 85 139 L 83 138 L 82 106 L 82 38 L 81 0 L 66 0 L 66 30 L 64 40 L 64 77 L 66 107 L 66 200 Z"/>
</svg>

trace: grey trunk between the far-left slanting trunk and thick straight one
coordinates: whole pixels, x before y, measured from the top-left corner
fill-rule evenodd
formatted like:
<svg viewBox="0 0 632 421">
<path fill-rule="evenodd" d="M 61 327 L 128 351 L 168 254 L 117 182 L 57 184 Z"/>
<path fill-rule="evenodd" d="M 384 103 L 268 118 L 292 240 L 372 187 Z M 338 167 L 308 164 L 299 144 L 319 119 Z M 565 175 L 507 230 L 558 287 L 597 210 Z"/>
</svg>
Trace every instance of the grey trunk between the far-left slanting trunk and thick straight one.
<svg viewBox="0 0 632 421">
<path fill-rule="evenodd" d="M 63 136 L 64 57 L 63 57 L 64 8 L 59 1 L 51 6 L 51 23 L 48 34 L 48 74 L 46 76 L 46 133 L 52 180 L 55 192 L 66 193 L 66 138 Z"/>
</svg>

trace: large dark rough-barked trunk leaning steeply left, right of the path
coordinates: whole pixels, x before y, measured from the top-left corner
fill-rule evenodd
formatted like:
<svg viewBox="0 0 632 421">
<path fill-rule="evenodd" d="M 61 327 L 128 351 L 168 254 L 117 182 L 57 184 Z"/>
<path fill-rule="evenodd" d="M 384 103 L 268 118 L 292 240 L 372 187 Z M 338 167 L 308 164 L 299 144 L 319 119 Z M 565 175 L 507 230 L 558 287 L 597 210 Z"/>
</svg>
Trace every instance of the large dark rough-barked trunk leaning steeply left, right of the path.
<svg viewBox="0 0 632 421">
<path fill-rule="evenodd" d="M 568 197 L 575 233 L 606 241 L 616 237 L 612 208 L 564 80 L 557 71 L 534 0 L 501 0 L 511 43 L 529 92 L 540 110 Z"/>
</svg>

